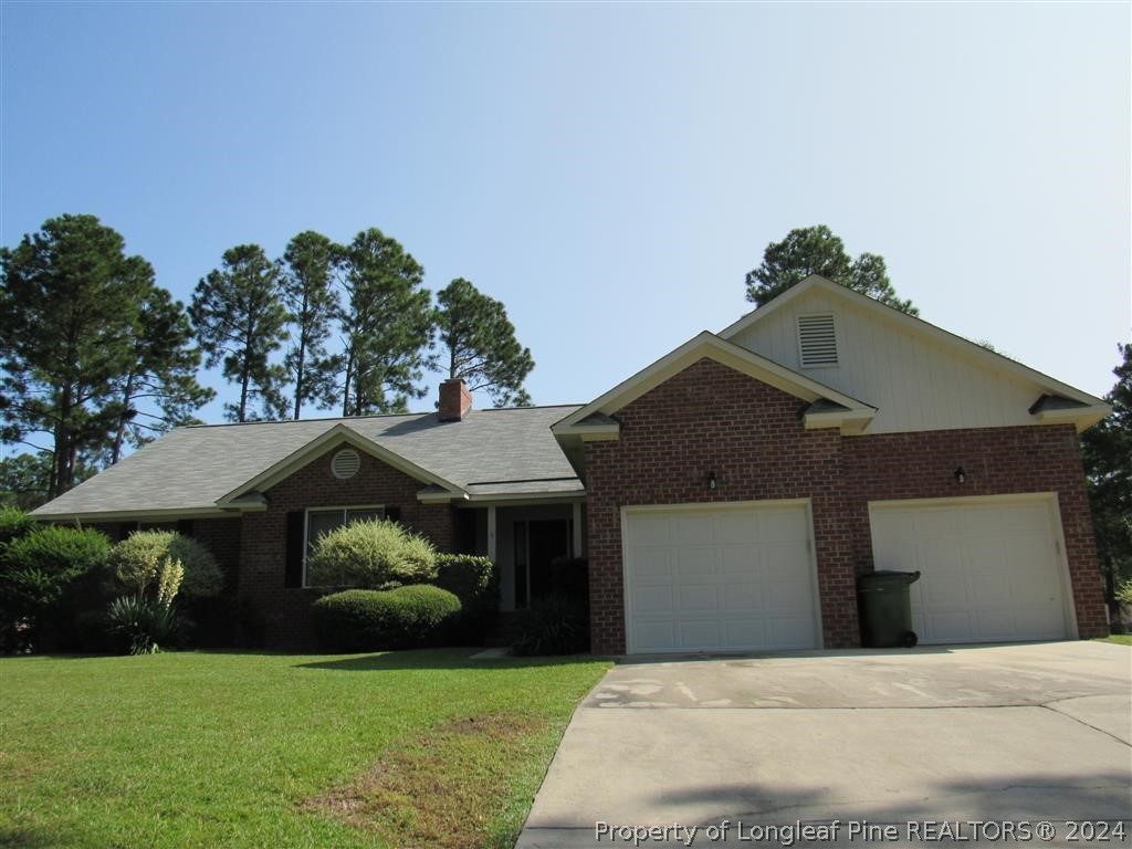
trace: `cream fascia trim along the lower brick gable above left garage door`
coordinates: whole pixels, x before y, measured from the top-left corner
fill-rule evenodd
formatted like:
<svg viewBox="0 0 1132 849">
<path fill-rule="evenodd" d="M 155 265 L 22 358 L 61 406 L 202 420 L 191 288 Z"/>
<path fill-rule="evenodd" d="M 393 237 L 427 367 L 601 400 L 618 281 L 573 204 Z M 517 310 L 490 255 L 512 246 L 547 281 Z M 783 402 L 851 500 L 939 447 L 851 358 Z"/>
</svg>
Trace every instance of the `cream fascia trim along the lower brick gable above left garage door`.
<svg viewBox="0 0 1132 849">
<path fill-rule="evenodd" d="M 876 411 L 876 408 L 869 404 L 704 331 L 633 377 L 623 380 L 601 397 L 552 424 L 550 429 L 556 436 L 581 432 L 585 430 L 585 426 L 580 422 L 588 415 L 594 413 L 609 415 L 617 412 L 704 357 L 803 401 L 814 402 L 822 397 L 852 411 Z"/>
</svg>

